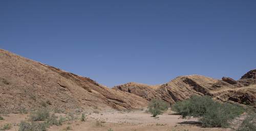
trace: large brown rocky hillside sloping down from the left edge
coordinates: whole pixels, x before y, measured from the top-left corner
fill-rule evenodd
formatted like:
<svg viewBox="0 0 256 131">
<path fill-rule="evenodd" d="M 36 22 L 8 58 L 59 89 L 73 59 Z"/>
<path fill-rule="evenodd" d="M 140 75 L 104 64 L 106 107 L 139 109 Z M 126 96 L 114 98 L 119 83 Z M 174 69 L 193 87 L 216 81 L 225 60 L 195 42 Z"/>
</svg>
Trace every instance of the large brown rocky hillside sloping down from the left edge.
<svg viewBox="0 0 256 131">
<path fill-rule="evenodd" d="M 147 100 L 112 90 L 90 78 L 0 50 L 0 112 L 49 106 L 57 110 L 126 110 Z"/>
</svg>

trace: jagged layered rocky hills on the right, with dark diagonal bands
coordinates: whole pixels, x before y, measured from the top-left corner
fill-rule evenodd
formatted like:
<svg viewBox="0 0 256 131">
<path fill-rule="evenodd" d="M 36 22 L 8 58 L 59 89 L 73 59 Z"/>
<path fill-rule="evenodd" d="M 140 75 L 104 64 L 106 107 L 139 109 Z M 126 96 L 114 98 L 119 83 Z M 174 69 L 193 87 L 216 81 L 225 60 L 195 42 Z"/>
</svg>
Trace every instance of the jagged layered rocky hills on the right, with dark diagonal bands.
<svg viewBox="0 0 256 131">
<path fill-rule="evenodd" d="M 249 71 L 238 81 L 229 77 L 223 77 L 222 80 L 218 80 L 201 75 L 187 75 L 177 77 L 155 89 L 150 88 L 149 85 L 130 83 L 118 85 L 114 88 L 138 95 L 146 100 L 160 98 L 171 104 L 187 99 L 191 95 L 209 95 L 221 101 L 238 102 L 255 106 L 255 72 L 256 70 Z"/>
</svg>

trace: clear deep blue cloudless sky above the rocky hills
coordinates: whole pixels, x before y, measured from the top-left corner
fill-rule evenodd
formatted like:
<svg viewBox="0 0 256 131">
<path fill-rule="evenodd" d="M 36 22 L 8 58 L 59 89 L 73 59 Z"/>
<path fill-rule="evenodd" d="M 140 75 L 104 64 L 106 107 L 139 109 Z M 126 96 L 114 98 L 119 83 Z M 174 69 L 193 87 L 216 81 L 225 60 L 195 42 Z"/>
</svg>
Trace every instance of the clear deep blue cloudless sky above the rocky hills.
<svg viewBox="0 0 256 131">
<path fill-rule="evenodd" d="M 114 86 L 256 69 L 256 1 L 0 1 L 0 48 Z"/>
</svg>

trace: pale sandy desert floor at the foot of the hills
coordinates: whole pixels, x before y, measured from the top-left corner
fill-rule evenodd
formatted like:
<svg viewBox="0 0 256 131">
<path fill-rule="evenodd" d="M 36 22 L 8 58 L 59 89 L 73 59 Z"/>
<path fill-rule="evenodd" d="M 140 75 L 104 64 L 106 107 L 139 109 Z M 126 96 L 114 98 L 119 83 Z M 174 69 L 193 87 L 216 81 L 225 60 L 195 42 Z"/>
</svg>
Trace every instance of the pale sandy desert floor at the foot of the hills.
<svg viewBox="0 0 256 131">
<path fill-rule="evenodd" d="M 197 119 L 191 118 L 189 120 L 180 119 L 178 115 L 168 115 L 164 113 L 159 115 L 159 118 L 153 118 L 150 114 L 144 111 L 136 111 L 130 113 L 110 111 L 105 113 L 91 113 L 87 114 L 86 122 L 79 119 L 66 122 L 61 126 L 51 126 L 49 131 L 55 130 L 90 130 L 90 131 L 107 131 L 113 129 L 114 131 L 187 131 L 187 130 L 231 130 L 227 128 L 203 128 L 197 123 Z M 11 130 L 18 130 L 18 123 L 22 120 L 27 120 L 27 115 L 8 114 L 3 116 L 5 120 L 0 120 L 0 126 L 6 123 L 11 123 Z M 80 115 L 77 116 L 80 118 Z M 99 121 L 100 125 L 97 125 Z"/>
</svg>

